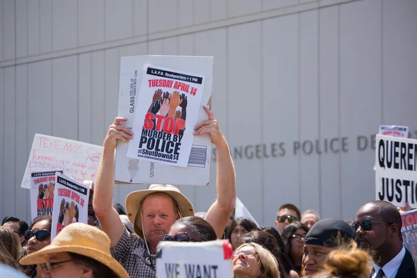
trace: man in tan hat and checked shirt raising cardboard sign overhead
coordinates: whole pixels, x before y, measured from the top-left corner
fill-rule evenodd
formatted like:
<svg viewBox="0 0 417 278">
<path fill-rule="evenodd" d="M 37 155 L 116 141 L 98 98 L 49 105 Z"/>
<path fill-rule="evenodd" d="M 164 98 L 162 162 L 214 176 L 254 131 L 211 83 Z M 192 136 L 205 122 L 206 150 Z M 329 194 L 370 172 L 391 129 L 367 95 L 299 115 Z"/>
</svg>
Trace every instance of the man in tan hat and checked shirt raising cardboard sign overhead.
<svg viewBox="0 0 417 278">
<path fill-rule="evenodd" d="M 213 113 L 204 106 L 208 120 L 195 126 L 195 136 L 210 136 L 217 149 L 217 199 L 208 209 L 205 220 L 218 238 L 222 238 L 236 199 L 235 172 L 227 141 Z M 194 206 L 170 185 L 153 184 L 126 197 L 126 213 L 138 235 L 124 228 L 112 207 L 114 154 L 117 140 L 129 142 L 133 133 L 123 125 L 126 119 L 116 117 L 104 140 L 103 156 L 95 183 L 94 210 L 101 228 L 111 239 L 111 252 L 132 278 L 156 277 L 156 245 L 168 234 L 174 222 L 194 216 Z"/>
</svg>

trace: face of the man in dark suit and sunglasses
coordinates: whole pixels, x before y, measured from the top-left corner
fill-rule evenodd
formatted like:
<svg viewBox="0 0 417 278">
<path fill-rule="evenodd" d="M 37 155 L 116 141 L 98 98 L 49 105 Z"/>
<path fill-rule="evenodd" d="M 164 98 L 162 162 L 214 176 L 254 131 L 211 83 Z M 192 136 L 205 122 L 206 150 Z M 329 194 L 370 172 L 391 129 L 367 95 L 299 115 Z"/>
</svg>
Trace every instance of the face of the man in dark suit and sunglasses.
<svg viewBox="0 0 417 278">
<path fill-rule="evenodd" d="M 361 223 L 362 220 L 369 219 L 378 222 L 373 222 L 372 228 L 369 231 L 364 231 L 361 227 L 356 230 L 362 248 L 371 250 L 379 250 L 389 240 L 389 226 L 379 216 L 379 208 L 373 204 L 365 204 L 359 208 L 356 215 L 356 222 Z"/>
</svg>

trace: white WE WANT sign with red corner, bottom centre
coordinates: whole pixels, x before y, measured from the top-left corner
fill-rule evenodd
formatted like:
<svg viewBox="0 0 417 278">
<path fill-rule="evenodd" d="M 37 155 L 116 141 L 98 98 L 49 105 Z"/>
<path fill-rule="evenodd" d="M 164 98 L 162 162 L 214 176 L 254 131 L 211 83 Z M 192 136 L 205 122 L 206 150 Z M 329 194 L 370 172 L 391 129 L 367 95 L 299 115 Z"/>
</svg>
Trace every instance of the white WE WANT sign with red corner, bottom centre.
<svg viewBox="0 0 417 278">
<path fill-rule="evenodd" d="M 228 240 L 204 243 L 161 241 L 157 247 L 157 278 L 234 277 L 233 249 Z"/>
</svg>

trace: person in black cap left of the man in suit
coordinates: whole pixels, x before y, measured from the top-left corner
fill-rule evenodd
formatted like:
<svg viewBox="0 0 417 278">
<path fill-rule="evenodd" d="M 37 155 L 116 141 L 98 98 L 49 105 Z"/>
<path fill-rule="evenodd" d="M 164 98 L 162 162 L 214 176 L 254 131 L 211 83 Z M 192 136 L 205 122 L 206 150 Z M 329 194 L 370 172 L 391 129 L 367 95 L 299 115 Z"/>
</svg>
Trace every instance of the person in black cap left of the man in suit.
<svg viewBox="0 0 417 278">
<path fill-rule="evenodd" d="M 318 221 L 306 234 L 302 256 L 303 272 L 307 276 L 316 274 L 321 270 L 327 254 L 356 238 L 352 227 L 342 220 L 328 218 Z"/>
</svg>

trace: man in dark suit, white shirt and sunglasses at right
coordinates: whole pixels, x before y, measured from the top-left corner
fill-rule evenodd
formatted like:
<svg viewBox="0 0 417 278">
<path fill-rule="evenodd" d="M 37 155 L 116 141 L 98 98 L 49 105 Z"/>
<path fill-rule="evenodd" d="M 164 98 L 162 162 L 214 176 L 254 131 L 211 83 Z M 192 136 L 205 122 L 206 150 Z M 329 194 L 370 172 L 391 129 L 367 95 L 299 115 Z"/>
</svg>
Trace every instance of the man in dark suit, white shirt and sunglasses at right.
<svg viewBox="0 0 417 278">
<path fill-rule="evenodd" d="M 371 278 L 416 278 L 417 258 L 402 245 L 402 220 L 393 204 L 368 202 L 359 208 L 353 228 L 361 247 L 373 255 Z"/>
</svg>

